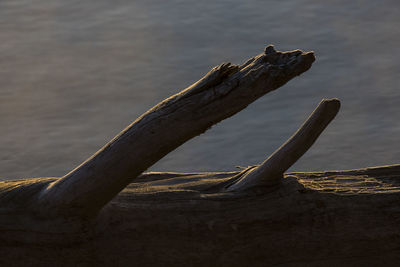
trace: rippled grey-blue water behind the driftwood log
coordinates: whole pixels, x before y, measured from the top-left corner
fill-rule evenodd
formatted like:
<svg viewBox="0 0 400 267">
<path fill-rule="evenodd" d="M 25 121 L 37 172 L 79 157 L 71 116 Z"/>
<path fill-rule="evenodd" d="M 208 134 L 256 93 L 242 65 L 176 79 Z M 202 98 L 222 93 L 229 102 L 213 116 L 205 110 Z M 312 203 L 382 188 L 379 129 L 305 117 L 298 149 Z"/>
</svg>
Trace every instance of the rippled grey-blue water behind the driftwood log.
<svg viewBox="0 0 400 267">
<path fill-rule="evenodd" d="M 266 44 L 311 70 L 151 170 L 262 161 L 324 97 L 342 109 L 291 170 L 400 163 L 400 2 L 0 1 L 0 177 L 59 176 L 138 115 Z"/>
</svg>

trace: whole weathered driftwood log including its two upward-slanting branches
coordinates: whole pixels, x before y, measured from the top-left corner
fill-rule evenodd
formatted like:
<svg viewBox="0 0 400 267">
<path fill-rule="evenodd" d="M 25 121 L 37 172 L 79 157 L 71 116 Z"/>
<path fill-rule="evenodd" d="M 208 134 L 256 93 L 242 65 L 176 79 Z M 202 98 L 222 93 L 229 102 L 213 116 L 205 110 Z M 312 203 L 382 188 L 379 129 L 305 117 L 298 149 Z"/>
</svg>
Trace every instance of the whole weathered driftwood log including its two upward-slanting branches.
<svg viewBox="0 0 400 267">
<path fill-rule="evenodd" d="M 0 265 L 395 265 L 400 166 L 284 174 L 335 117 L 337 99 L 321 101 L 259 166 L 143 173 L 313 61 L 268 46 L 215 67 L 64 177 L 1 182 Z"/>
</svg>

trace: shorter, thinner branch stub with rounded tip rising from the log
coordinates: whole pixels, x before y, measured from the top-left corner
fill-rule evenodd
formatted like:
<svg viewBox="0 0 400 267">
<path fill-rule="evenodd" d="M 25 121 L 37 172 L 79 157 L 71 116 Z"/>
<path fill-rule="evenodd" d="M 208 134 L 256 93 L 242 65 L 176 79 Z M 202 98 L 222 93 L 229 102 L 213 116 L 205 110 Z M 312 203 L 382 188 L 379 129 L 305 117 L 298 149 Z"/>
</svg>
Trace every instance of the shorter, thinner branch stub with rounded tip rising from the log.
<svg viewBox="0 0 400 267">
<path fill-rule="evenodd" d="M 255 186 L 271 186 L 281 181 L 283 173 L 289 169 L 314 144 L 322 131 L 335 118 L 340 101 L 323 99 L 297 132 L 278 148 L 260 166 L 251 169 L 228 191 L 240 191 Z"/>
</svg>

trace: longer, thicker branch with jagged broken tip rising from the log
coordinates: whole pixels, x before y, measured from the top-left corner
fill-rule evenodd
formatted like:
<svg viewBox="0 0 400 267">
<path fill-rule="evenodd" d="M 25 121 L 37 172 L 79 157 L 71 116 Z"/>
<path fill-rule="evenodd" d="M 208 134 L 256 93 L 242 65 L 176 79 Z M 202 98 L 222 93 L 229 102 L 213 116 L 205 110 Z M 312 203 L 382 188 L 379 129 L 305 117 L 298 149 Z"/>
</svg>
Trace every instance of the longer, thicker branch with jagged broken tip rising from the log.
<svg viewBox="0 0 400 267">
<path fill-rule="evenodd" d="M 272 46 L 242 66 L 222 64 L 139 117 L 76 169 L 50 183 L 43 211 L 97 212 L 129 182 L 187 140 L 307 71 L 315 58 Z"/>
</svg>

